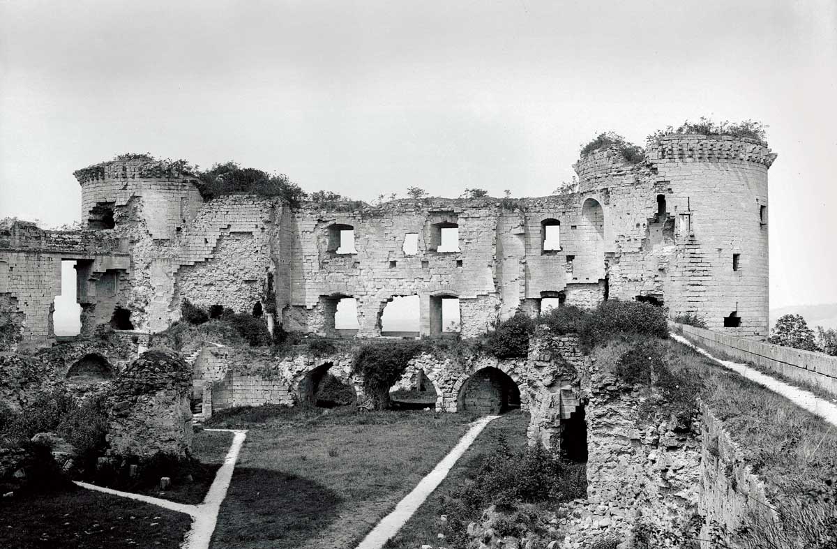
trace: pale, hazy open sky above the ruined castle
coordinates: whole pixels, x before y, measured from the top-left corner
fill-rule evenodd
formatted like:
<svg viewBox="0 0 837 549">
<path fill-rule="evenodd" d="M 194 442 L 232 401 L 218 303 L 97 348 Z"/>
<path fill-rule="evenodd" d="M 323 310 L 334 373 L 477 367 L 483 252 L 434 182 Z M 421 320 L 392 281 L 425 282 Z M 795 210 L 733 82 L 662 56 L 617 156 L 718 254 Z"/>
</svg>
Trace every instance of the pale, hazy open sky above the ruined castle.
<svg viewBox="0 0 837 549">
<path fill-rule="evenodd" d="M 837 301 L 834 0 L 0 0 L 0 217 L 80 216 L 118 153 L 234 159 L 364 200 L 545 195 L 580 146 L 770 126 L 771 305 Z"/>
</svg>

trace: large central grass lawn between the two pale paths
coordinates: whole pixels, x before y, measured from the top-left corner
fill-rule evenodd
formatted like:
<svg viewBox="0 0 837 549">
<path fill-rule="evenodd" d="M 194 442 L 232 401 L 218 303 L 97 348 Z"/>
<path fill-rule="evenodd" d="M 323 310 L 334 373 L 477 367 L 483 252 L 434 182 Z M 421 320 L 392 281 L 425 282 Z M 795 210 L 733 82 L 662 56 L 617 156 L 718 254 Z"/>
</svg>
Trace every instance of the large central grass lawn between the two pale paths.
<svg viewBox="0 0 837 549">
<path fill-rule="evenodd" d="M 249 428 L 213 549 L 351 549 L 467 430 L 464 413 L 245 409 Z M 249 421 L 247 421 L 249 420 Z"/>
</svg>

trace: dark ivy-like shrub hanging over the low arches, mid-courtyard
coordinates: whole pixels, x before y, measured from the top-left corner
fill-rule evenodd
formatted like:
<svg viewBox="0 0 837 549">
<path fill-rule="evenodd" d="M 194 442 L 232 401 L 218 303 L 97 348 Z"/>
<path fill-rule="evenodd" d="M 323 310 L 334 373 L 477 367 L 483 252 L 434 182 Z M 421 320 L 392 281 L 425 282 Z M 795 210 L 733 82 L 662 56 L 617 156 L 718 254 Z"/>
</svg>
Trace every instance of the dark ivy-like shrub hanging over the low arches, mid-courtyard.
<svg viewBox="0 0 837 549">
<path fill-rule="evenodd" d="M 422 351 L 418 341 L 364 343 L 352 361 L 352 373 L 363 379 L 363 391 L 375 408 L 389 408 L 389 387 L 401 379 L 410 359 Z"/>
</svg>

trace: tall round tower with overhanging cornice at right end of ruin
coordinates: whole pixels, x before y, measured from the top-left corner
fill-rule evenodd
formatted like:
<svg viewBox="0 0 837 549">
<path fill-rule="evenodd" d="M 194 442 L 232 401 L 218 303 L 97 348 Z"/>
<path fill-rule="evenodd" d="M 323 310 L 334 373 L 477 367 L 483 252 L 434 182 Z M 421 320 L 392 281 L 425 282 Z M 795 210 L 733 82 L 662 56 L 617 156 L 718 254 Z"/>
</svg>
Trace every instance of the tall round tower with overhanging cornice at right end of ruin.
<svg viewBox="0 0 837 549">
<path fill-rule="evenodd" d="M 670 315 L 767 336 L 768 168 L 776 154 L 752 139 L 670 135 L 651 141 L 646 155 L 660 215 L 675 222 L 665 275 Z"/>
</svg>

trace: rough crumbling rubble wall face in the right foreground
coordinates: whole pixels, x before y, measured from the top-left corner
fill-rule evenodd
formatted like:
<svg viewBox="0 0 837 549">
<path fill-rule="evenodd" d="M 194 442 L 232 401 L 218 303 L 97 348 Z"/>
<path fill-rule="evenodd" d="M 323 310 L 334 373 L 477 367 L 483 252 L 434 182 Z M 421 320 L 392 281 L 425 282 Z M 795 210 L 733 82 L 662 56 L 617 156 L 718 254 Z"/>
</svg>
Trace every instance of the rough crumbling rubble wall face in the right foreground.
<svg viewBox="0 0 837 549">
<path fill-rule="evenodd" d="M 698 420 L 684 430 L 676 421 L 645 418 L 639 409 L 647 396 L 595 366 L 591 390 L 584 407 L 588 497 L 570 505 L 564 546 L 588 547 L 606 536 L 629 540 L 640 522 L 686 530 L 700 492 Z"/>
</svg>

